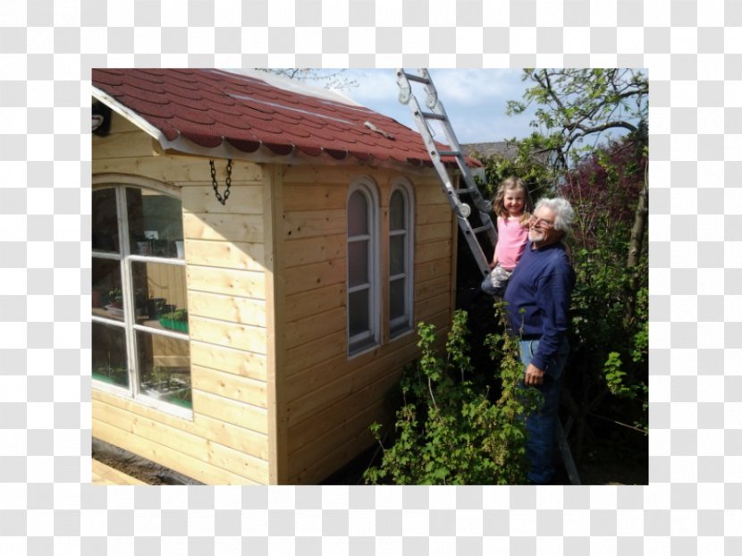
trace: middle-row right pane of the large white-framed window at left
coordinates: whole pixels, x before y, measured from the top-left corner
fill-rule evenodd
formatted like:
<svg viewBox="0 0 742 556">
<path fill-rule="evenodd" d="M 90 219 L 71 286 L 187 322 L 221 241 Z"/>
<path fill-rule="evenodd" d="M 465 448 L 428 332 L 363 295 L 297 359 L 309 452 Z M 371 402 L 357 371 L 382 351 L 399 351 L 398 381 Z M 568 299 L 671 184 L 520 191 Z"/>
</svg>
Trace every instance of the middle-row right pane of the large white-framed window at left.
<svg viewBox="0 0 742 556">
<path fill-rule="evenodd" d="M 131 263 L 137 324 L 188 333 L 185 267 Z"/>
</svg>

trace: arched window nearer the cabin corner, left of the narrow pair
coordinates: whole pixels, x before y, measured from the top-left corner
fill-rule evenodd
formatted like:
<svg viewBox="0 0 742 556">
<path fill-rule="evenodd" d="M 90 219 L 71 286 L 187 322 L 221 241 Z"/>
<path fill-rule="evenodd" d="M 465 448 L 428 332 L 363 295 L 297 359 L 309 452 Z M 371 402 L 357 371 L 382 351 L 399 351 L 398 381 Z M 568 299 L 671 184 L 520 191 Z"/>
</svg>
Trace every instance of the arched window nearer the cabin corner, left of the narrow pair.
<svg viewBox="0 0 742 556">
<path fill-rule="evenodd" d="M 378 201 L 364 178 L 348 196 L 348 354 L 379 342 Z"/>
</svg>

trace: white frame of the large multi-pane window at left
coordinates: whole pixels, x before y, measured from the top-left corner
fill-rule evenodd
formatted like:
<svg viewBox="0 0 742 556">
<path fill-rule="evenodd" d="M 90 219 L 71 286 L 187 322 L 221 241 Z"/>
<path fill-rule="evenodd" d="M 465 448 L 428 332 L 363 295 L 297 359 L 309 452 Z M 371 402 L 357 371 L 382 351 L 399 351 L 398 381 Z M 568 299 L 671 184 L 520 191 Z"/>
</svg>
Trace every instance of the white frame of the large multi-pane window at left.
<svg viewBox="0 0 742 556">
<path fill-rule="evenodd" d="M 97 390 L 103 392 L 113 393 L 118 396 L 131 398 L 136 400 L 137 403 L 151 407 L 153 409 L 161 410 L 165 413 L 170 413 L 178 417 L 193 418 L 193 410 L 183 408 L 181 406 L 167 403 L 166 401 L 156 400 L 150 396 L 141 394 L 139 392 L 139 357 L 137 352 L 137 332 L 141 331 L 144 333 L 150 333 L 177 340 L 185 340 L 189 342 L 190 347 L 190 334 L 175 332 L 171 330 L 160 330 L 142 324 L 137 324 L 136 319 L 131 318 L 135 313 L 135 307 L 133 307 L 133 295 L 134 291 L 133 276 L 131 273 L 131 263 L 134 262 L 146 262 L 146 263 L 163 263 L 165 265 L 185 266 L 186 262 L 184 258 L 174 257 L 154 257 L 154 256 L 142 256 L 131 253 L 130 237 L 129 237 L 129 215 L 126 204 L 126 189 L 133 188 L 139 190 L 156 190 L 159 193 L 168 195 L 169 197 L 177 198 L 181 203 L 181 197 L 173 194 L 173 190 L 167 187 L 158 187 L 156 182 L 148 183 L 147 186 L 143 186 L 139 183 L 127 183 L 126 181 L 116 182 L 101 182 L 93 186 L 93 190 L 106 190 L 113 189 L 116 196 L 116 217 L 118 221 L 118 234 L 119 234 L 119 252 L 105 252 L 91 250 L 92 258 L 118 260 L 120 264 L 120 271 L 122 277 L 122 298 L 123 298 L 123 321 L 105 318 L 104 316 L 91 315 L 93 323 L 100 323 L 106 325 L 113 325 L 124 330 L 124 338 L 126 341 L 126 356 L 128 361 L 129 370 L 129 387 L 124 388 L 112 383 L 105 383 L 98 381 L 95 378 L 92 379 L 92 385 Z M 182 206 L 182 204 L 181 204 Z"/>
</svg>

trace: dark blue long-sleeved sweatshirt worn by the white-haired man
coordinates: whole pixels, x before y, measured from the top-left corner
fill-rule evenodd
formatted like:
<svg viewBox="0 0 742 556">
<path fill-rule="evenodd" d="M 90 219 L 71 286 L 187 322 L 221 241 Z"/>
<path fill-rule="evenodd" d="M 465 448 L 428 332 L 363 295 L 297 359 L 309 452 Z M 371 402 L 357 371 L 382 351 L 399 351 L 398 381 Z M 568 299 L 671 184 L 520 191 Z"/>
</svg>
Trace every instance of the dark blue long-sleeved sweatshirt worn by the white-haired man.
<svg viewBox="0 0 742 556">
<path fill-rule="evenodd" d="M 531 363 L 541 370 L 550 366 L 567 335 L 574 286 L 575 271 L 561 242 L 533 250 L 528 241 L 504 299 L 512 332 L 540 340 Z"/>
</svg>

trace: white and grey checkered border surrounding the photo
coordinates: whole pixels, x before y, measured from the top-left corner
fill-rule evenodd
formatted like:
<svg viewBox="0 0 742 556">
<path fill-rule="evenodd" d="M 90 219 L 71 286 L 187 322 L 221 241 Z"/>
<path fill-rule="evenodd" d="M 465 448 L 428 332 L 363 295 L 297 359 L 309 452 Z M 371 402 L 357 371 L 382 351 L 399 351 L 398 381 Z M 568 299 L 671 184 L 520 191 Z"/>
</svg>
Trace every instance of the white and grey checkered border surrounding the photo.
<svg viewBox="0 0 742 556">
<path fill-rule="evenodd" d="M 2 5 L 0 553 L 742 553 L 742 3 L 216 4 Z M 648 68 L 651 484 L 90 485 L 90 69 L 186 65 Z"/>
</svg>

